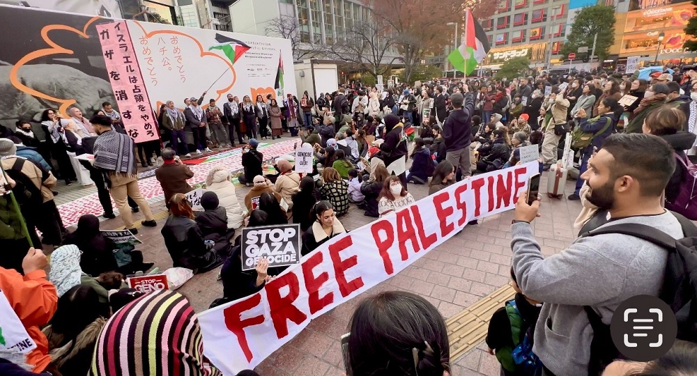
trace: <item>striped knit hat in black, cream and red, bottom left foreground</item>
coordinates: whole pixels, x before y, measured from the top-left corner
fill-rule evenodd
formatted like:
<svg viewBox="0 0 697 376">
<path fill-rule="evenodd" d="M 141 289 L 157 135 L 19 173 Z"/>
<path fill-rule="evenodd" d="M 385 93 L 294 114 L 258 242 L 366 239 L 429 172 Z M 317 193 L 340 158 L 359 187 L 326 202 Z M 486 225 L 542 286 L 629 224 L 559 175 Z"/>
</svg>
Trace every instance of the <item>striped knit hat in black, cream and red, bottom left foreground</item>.
<svg viewBox="0 0 697 376">
<path fill-rule="evenodd" d="M 219 376 L 204 364 L 201 328 L 178 292 L 160 290 L 116 312 L 95 346 L 90 376 Z"/>
</svg>

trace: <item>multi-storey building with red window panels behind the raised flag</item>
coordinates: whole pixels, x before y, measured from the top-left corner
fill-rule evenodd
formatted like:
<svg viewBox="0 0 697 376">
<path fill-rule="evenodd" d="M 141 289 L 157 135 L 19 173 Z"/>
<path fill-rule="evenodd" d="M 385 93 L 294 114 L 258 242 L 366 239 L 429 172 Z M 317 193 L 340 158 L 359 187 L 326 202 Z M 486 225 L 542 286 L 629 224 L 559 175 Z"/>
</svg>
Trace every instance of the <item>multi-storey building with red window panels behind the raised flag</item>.
<svg viewBox="0 0 697 376">
<path fill-rule="evenodd" d="M 558 56 L 567 33 L 569 0 L 502 0 L 482 27 L 491 50 L 483 69 L 498 70 L 510 58 L 526 56 L 542 70 L 562 61 Z"/>
</svg>

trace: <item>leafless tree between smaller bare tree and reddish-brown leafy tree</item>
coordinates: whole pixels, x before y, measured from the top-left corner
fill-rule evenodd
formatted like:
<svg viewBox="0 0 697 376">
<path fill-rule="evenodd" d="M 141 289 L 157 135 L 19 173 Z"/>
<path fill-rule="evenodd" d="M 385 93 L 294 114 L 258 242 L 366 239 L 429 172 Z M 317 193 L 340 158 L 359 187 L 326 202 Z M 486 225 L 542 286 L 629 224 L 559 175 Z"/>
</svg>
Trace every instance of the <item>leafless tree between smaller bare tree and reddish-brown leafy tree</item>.
<svg viewBox="0 0 697 376">
<path fill-rule="evenodd" d="M 395 38 L 383 22 L 358 22 L 346 29 L 346 37 L 339 37 L 333 44 L 324 46 L 323 52 L 335 60 L 352 63 L 373 77 L 392 70 L 392 63 L 383 61 Z"/>
</svg>

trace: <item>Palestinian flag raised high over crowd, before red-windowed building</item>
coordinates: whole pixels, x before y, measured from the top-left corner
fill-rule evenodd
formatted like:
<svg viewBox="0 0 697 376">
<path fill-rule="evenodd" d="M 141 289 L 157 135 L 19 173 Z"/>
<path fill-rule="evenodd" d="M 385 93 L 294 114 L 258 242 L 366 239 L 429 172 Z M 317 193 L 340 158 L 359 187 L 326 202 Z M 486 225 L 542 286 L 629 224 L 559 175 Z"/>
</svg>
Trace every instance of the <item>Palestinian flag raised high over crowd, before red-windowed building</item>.
<svg viewBox="0 0 697 376">
<path fill-rule="evenodd" d="M 472 17 L 470 10 L 465 11 L 465 31 L 462 44 L 447 56 L 452 66 L 465 75 L 472 73 L 489 53 L 489 40 L 482 25 Z"/>
</svg>

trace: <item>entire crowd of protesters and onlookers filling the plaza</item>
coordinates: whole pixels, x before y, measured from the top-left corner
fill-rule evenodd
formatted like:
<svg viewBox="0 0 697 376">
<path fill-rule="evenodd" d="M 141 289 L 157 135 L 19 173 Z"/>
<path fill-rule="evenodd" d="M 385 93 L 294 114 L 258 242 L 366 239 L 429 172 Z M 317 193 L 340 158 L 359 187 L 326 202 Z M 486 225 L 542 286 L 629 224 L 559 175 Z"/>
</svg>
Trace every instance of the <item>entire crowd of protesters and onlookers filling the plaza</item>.
<svg viewBox="0 0 697 376">
<path fill-rule="evenodd" d="M 161 233 L 174 267 L 204 273 L 222 266 L 223 296 L 211 306 L 258 292 L 285 269 L 269 267 L 261 259 L 254 269 L 243 271 L 238 237 L 243 226 L 300 224 L 305 256 L 350 230 L 340 218 L 352 207 L 367 217 L 388 216 L 415 202 L 409 183 L 427 185 L 428 194 L 434 194 L 470 175 L 518 164 L 519 149 L 530 145 L 539 149 L 541 172 L 562 159 L 565 143 L 574 146 L 579 178 L 568 199 L 583 203 L 577 219 L 580 234 L 616 217 L 615 223 L 651 224 L 676 239 L 684 235 L 681 223 L 663 205 L 684 199 L 680 190 L 691 181 L 686 177 L 692 166 L 689 157 L 697 151 L 694 72 L 657 72 L 650 80 L 606 72 L 511 81 L 434 80 L 382 93 L 358 84 L 318 97 L 305 92 L 300 100 L 289 94 L 281 102 L 261 95 L 254 100 L 245 95 L 240 102 L 230 94 L 222 108 L 210 100 L 203 109 L 205 95 L 187 98 L 183 111 L 171 100 L 163 104 L 158 113 L 162 139 L 156 142 L 133 143 L 121 115 L 108 102 L 89 120 L 77 107 L 68 111 L 70 118 L 47 109 L 41 119 L 45 141 L 38 141 L 31 123 L 22 120 L 14 132 L 0 130 L 6 189 L 13 191 L 20 207 L 13 215 L 7 196 L 0 196 L 0 207 L 8 208 L 8 215 L 0 218 L 8 228 L 0 244 L 13 250 L 0 257 L 0 289 L 37 343 L 24 363 L 0 359 L 0 374 L 139 374 L 144 364 L 137 359 L 144 347 L 121 354 L 109 350 L 118 347 L 115 336 L 123 340 L 132 335 L 117 324 L 123 320 L 171 336 L 151 343 L 148 351 L 164 355 L 190 350 L 184 363 L 166 361 L 164 366 L 220 374 L 202 347 L 191 345 L 200 343 L 200 329 L 185 335 L 178 331 L 198 326 L 185 297 L 124 288 L 125 276 L 147 272 L 152 263 L 144 263 L 133 248 L 124 251 L 126 260 L 118 258 L 93 215 L 80 218 L 72 233 L 63 226 L 53 201 L 59 179 L 66 185 L 97 183 L 104 217 L 115 217 L 110 196 L 125 228 L 135 234 L 132 212 L 144 214 L 144 226 L 157 226 L 138 187 L 137 164 L 158 164 L 155 175 L 169 210 Z M 277 139 L 285 132 L 299 136 L 298 147 L 314 150 L 312 173 L 295 172 L 293 162 L 284 157 L 264 157 L 259 140 Z M 188 133 L 193 143 L 187 141 Z M 192 152 L 235 147 L 236 141 L 243 145 L 238 181 L 249 187 L 247 193 L 238 197 L 236 171 L 215 167 L 206 178 L 203 209 L 194 211 L 185 197 L 192 190 L 188 180 L 193 173 L 182 159 Z M 85 153 L 94 155 L 92 163 L 77 159 Z M 634 166 L 636 160 L 643 163 Z M 622 179 L 625 185 L 620 187 Z M 543 258 L 530 226 L 539 205 L 524 199 L 516 205 L 510 273 L 516 297 L 493 315 L 487 345 L 503 375 L 585 374 L 596 360 L 586 334 L 597 328 L 584 306 L 608 324 L 627 297 L 657 296 L 665 251 L 631 235 L 604 234 L 581 237 L 567 251 Z M 20 219 L 29 228 L 28 237 Z M 48 274 L 42 248 L 52 251 Z M 641 265 L 632 261 L 636 257 Z M 605 258 L 614 263 L 605 263 Z M 579 273 L 594 278 L 579 281 L 573 277 Z M 583 297 L 568 296 L 579 288 L 586 292 Z M 353 375 L 451 372 L 445 322 L 422 297 L 383 292 L 365 299 L 350 326 L 345 360 Z M 396 333 L 397 327 L 404 330 Z M 513 331 L 519 338 L 512 338 Z M 524 355 L 534 359 L 537 368 L 532 371 L 516 362 L 514 350 L 521 343 L 528 345 Z M 696 350 L 694 343 L 678 342 L 656 361 L 615 362 L 605 374 L 672 374 L 676 364 L 689 364 L 689 354 Z M 105 366 L 114 362 L 110 357 L 135 363 L 129 373 L 118 373 Z"/>
</svg>

